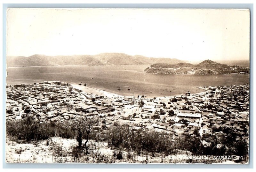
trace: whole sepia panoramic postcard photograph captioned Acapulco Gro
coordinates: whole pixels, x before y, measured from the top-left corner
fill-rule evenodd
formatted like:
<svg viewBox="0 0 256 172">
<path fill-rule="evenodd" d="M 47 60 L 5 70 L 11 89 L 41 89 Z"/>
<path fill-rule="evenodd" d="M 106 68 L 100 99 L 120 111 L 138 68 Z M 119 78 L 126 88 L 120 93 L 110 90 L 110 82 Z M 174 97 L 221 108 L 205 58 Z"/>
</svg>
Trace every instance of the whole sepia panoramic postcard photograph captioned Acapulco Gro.
<svg viewBox="0 0 256 172">
<path fill-rule="evenodd" d="M 249 163 L 249 9 L 8 8 L 6 25 L 6 163 Z"/>
</svg>

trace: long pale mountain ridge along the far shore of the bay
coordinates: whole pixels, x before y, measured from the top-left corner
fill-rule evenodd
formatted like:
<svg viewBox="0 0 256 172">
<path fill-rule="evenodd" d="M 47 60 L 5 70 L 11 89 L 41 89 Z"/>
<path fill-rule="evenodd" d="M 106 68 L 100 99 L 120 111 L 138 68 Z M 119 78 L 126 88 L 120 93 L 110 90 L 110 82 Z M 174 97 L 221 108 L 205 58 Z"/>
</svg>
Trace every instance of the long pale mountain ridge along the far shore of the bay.
<svg viewBox="0 0 256 172">
<path fill-rule="evenodd" d="M 177 64 L 184 61 L 175 58 L 153 58 L 140 55 L 130 56 L 124 53 L 101 53 L 98 55 L 73 56 L 7 56 L 7 67 L 55 66 L 55 65 L 133 65 L 168 63 Z"/>
</svg>

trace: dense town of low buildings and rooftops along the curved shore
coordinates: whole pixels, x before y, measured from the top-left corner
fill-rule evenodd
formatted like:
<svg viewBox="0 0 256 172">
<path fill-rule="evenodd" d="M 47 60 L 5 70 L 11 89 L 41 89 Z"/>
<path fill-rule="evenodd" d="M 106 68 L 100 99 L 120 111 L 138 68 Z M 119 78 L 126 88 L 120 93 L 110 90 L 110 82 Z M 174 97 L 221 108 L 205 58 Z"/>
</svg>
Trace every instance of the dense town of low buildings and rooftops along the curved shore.
<svg viewBox="0 0 256 172">
<path fill-rule="evenodd" d="M 249 85 L 204 86 L 203 92 L 175 97 L 98 96 L 54 81 L 6 88 L 6 120 L 31 116 L 39 123 L 95 116 L 102 130 L 131 130 L 205 136 L 249 132 Z"/>
</svg>

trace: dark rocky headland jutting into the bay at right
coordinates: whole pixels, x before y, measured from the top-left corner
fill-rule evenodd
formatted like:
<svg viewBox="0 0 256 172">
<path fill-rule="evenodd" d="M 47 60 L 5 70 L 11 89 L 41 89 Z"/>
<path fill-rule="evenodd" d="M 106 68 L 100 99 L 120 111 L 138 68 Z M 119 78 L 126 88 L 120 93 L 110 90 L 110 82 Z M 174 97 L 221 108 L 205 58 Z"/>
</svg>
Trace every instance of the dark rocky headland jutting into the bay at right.
<svg viewBox="0 0 256 172">
<path fill-rule="evenodd" d="M 230 74 L 230 73 L 249 73 L 249 68 L 243 68 L 237 65 L 229 66 L 220 64 L 212 60 L 204 60 L 199 64 L 190 63 L 158 63 L 152 64 L 144 71 L 156 74 L 195 74 L 195 75 L 211 75 L 211 74 Z"/>
</svg>

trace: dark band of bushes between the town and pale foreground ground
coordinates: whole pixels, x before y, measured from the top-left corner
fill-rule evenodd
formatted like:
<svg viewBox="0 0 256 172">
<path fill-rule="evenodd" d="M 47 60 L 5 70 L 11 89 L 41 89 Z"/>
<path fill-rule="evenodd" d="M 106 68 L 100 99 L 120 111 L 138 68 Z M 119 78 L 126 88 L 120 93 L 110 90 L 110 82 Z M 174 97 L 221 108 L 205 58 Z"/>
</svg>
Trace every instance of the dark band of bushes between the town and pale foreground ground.
<svg viewBox="0 0 256 172">
<path fill-rule="evenodd" d="M 77 132 L 68 123 L 36 123 L 31 117 L 22 120 L 6 122 L 6 135 L 12 140 L 26 142 L 48 139 L 50 137 L 76 138 Z M 206 144 L 202 140 L 207 138 Z M 86 139 L 83 136 L 83 139 Z M 229 133 L 222 136 L 214 135 L 181 135 L 156 131 L 132 131 L 127 125 L 116 125 L 108 130 L 92 129 L 89 139 L 108 142 L 113 148 L 124 149 L 127 152 L 165 153 L 176 155 L 180 151 L 189 151 L 192 155 L 237 155 L 248 156 L 248 143 L 237 139 L 236 135 Z"/>
</svg>

